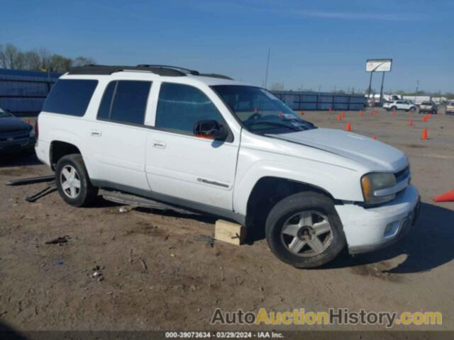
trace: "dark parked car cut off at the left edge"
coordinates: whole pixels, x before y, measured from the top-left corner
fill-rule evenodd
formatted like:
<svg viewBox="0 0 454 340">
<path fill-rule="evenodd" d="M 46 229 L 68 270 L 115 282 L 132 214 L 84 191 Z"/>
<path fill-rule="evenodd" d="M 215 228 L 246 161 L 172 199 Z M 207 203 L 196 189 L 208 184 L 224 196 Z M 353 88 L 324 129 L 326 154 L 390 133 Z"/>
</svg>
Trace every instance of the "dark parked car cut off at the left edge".
<svg viewBox="0 0 454 340">
<path fill-rule="evenodd" d="M 33 152 L 34 147 L 33 126 L 0 108 L 0 153 Z"/>
</svg>

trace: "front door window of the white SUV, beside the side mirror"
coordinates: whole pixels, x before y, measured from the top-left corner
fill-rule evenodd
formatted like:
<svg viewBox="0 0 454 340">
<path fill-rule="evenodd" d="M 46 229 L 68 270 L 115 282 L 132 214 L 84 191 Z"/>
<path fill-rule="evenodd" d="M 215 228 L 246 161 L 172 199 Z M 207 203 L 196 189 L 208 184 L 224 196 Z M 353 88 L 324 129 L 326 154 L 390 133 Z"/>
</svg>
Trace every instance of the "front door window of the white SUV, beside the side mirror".
<svg viewBox="0 0 454 340">
<path fill-rule="evenodd" d="M 214 103 L 199 89 L 184 84 L 162 83 L 156 110 L 156 128 L 193 134 L 199 120 L 225 124 Z"/>
</svg>

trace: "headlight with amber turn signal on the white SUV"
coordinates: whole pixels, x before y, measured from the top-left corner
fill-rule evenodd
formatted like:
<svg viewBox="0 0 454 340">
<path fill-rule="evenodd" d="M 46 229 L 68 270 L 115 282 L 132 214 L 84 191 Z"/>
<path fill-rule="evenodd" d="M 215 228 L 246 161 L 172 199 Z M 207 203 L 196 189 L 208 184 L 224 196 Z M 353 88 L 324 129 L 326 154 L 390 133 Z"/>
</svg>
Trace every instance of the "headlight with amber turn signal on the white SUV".
<svg viewBox="0 0 454 340">
<path fill-rule="evenodd" d="M 365 203 L 377 204 L 393 200 L 396 197 L 395 193 L 387 196 L 375 196 L 375 191 L 390 188 L 396 185 L 396 177 L 394 174 L 388 173 L 375 173 L 362 176 L 361 186 L 362 195 L 364 196 Z"/>
</svg>

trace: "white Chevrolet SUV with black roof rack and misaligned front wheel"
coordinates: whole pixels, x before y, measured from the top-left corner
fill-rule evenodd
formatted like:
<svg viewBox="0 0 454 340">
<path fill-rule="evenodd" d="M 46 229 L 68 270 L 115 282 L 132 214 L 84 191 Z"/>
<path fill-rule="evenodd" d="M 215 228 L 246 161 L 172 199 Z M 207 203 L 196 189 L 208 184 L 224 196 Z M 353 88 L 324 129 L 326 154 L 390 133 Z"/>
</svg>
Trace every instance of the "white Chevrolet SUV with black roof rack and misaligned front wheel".
<svg viewBox="0 0 454 340">
<path fill-rule="evenodd" d="M 265 89 L 219 74 L 75 67 L 38 118 L 36 153 L 70 205 L 99 188 L 264 230 L 299 268 L 391 243 L 414 224 L 406 155 L 316 128 Z M 38 132 L 38 129 L 37 129 Z"/>
</svg>

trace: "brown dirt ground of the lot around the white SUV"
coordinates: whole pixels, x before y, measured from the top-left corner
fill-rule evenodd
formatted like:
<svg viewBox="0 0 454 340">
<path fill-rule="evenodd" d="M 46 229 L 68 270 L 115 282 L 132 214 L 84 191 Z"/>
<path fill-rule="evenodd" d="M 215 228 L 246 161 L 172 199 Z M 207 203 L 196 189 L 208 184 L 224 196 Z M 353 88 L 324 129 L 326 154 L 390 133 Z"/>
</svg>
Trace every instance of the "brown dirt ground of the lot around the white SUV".
<svg viewBox="0 0 454 340">
<path fill-rule="evenodd" d="M 454 330 L 454 203 L 432 200 L 454 188 L 454 116 L 434 115 L 423 123 L 418 113 L 346 112 L 339 122 L 337 114 L 306 112 L 304 118 L 323 128 L 344 129 L 350 121 L 353 132 L 375 135 L 409 155 L 423 204 L 416 227 L 398 244 L 299 270 L 278 261 L 265 240 L 214 247 L 199 241 L 199 235 L 214 234 L 213 217 L 145 209 L 122 213 L 121 205 L 101 199 L 93 208 L 73 208 L 56 192 L 27 203 L 24 198 L 45 184 L 3 183 L 50 170 L 34 157 L 2 156 L 0 320 L 19 330 L 238 330 L 259 327 L 211 326 L 215 308 L 345 307 L 440 311 L 443 325 L 408 328 Z M 66 235 L 66 244 L 45 244 Z M 96 270 L 102 276 L 92 277 Z"/>
</svg>

